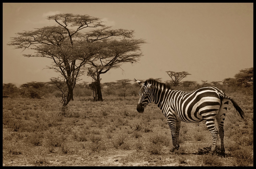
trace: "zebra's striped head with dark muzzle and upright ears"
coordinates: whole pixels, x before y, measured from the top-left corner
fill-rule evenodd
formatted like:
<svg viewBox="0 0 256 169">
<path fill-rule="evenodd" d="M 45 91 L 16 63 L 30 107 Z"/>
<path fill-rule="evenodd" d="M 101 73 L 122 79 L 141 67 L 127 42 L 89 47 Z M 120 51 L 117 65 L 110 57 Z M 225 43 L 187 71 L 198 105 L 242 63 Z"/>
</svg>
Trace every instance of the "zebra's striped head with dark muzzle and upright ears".
<svg viewBox="0 0 256 169">
<path fill-rule="evenodd" d="M 137 111 L 139 113 L 143 113 L 144 108 L 152 101 L 153 92 L 152 89 L 154 88 L 154 85 L 149 84 L 147 82 L 142 83 L 141 81 L 138 81 L 134 79 L 138 85 L 141 86 L 139 91 L 140 99 L 138 101 L 137 105 Z"/>
</svg>

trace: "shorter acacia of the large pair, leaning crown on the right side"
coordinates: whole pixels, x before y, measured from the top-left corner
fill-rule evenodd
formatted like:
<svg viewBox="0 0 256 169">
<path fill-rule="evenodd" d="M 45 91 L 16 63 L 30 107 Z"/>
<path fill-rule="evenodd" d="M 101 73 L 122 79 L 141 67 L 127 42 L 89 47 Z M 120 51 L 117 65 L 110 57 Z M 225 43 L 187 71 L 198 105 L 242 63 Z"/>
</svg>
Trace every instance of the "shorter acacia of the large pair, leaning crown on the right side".
<svg viewBox="0 0 256 169">
<path fill-rule="evenodd" d="M 134 31 L 130 34 L 113 39 L 104 39 L 101 43 L 101 51 L 97 57 L 89 61 L 88 76 L 94 80 L 92 83 L 95 97 L 94 101 L 103 101 L 100 87 L 100 75 L 107 73 L 110 69 L 120 68 L 124 63 L 136 63 L 142 55 L 140 45 L 143 39 L 134 39 Z"/>
</svg>

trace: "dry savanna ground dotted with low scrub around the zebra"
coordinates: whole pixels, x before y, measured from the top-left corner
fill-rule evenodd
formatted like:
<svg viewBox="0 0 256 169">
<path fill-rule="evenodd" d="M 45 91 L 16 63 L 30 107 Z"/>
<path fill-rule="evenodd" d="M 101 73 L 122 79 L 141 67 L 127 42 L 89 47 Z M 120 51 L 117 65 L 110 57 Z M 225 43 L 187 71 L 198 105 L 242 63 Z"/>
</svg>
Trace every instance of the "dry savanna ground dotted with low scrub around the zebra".
<svg viewBox="0 0 256 169">
<path fill-rule="evenodd" d="M 3 98 L 3 166 L 253 166 L 253 93 L 226 94 L 225 157 L 207 154 L 212 137 L 204 122 L 182 123 L 180 148 L 160 109 L 136 111 L 138 96 L 75 97 L 66 110 L 56 97 Z"/>
</svg>

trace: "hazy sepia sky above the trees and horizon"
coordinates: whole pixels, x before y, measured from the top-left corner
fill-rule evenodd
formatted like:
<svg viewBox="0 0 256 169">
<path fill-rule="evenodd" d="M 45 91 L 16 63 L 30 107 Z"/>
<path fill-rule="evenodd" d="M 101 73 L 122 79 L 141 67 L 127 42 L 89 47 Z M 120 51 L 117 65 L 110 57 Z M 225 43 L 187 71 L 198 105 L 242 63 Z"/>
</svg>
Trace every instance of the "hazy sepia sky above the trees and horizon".
<svg viewBox="0 0 256 169">
<path fill-rule="evenodd" d="M 143 56 L 136 64 L 102 74 L 101 83 L 121 79 L 162 78 L 186 71 L 182 81 L 223 81 L 253 67 L 253 3 L 3 3 L 3 84 L 49 82 L 59 74 L 49 58 L 24 57 L 8 46 L 18 32 L 50 26 L 59 13 L 100 18 L 112 29 L 135 31 Z M 92 82 L 86 75 L 78 82 Z"/>
</svg>

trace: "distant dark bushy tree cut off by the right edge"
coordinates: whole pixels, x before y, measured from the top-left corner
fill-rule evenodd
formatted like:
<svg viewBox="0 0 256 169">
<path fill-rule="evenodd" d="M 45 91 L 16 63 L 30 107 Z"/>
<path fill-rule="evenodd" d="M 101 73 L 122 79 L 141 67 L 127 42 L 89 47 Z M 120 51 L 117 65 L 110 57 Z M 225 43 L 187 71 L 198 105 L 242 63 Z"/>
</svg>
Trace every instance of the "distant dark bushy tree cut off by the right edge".
<svg viewBox="0 0 256 169">
<path fill-rule="evenodd" d="M 236 81 L 239 84 L 249 86 L 253 84 L 253 67 L 242 69 L 235 75 Z"/>
</svg>

